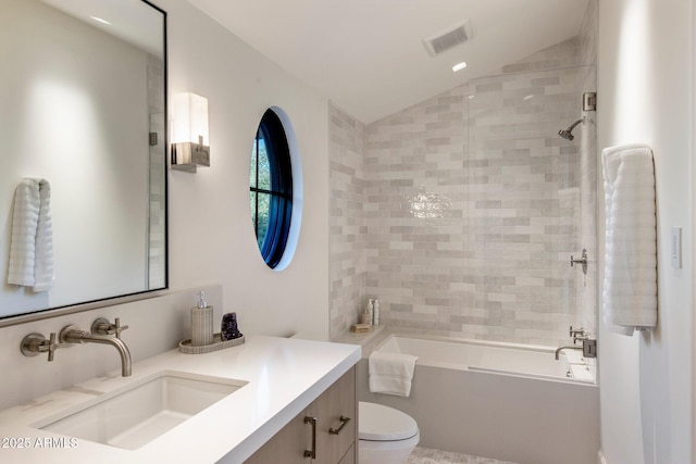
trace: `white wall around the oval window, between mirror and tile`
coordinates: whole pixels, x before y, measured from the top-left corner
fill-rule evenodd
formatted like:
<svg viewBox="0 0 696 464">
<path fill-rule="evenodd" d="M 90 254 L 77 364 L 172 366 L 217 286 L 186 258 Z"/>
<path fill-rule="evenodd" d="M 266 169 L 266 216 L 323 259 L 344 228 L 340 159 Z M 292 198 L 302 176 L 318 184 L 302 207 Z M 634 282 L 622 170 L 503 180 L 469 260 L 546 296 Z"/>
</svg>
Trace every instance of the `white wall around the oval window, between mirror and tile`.
<svg viewBox="0 0 696 464">
<path fill-rule="evenodd" d="M 174 289 L 220 283 L 243 333 L 306 330 L 328 337 L 328 103 L 183 0 L 169 13 L 170 96 L 209 100 L 211 166 L 171 172 L 170 279 Z M 290 265 L 260 256 L 249 211 L 257 127 L 276 105 L 295 127 L 302 159 L 303 215 Z"/>
</svg>

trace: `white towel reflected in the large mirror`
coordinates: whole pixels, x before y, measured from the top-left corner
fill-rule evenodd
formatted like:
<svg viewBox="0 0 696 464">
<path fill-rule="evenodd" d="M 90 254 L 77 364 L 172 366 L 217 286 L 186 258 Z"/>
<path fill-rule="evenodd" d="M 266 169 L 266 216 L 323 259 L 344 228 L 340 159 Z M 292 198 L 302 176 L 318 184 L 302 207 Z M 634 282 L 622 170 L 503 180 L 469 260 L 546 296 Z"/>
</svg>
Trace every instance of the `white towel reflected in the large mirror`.
<svg viewBox="0 0 696 464">
<path fill-rule="evenodd" d="M 8 284 L 48 291 L 53 286 L 51 186 L 25 178 L 14 192 Z"/>
</svg>

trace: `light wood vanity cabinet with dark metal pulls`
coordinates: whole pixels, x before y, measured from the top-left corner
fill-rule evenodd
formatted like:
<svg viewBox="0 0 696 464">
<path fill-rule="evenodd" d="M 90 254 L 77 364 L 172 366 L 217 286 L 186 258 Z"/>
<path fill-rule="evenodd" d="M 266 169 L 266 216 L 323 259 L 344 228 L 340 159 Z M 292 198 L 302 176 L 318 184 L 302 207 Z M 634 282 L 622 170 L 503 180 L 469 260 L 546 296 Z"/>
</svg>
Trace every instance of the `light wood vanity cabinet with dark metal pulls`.
<svg viewBox="0 0 696 464">
<path fill-rule="evenodd" d="M 312 451 L 312 418 L 316 419 L 314 457 L 309 455 Z M 355 464 L 358 457 L 357 437 L 358 399 L 353 366 L 266 441 L 246 463 Z"/>
</svg>

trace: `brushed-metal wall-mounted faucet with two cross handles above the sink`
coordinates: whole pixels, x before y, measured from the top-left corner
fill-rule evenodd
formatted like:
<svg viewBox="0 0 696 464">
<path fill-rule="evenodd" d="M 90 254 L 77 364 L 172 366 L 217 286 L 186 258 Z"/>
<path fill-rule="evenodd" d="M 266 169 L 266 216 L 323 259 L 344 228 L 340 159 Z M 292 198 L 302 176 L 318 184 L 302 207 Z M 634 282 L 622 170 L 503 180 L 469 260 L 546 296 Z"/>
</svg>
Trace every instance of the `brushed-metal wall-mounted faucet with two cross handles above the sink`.
<svg viewBox="0 0 696 464">
<path fill-rule="evenodd" d="M 100 317 L 92 323 L 91 333 L 80 330 L 74 325 L 63 327 L 58 336 L 58 342 L 55 341 L 55 333 L 52 333 L 49 339 L 41 334 L 29 334 L 22 340 L 20 350 L 25 356 L 48 353 L 48 360 L 53 361 L 53 353 L 59 348 L 67 348 L 77 343 L 111 344 L 121 355 L 121 375 L 128 377 L 132 373 L 130 351 L 121 340 L 121 333 L 127 328 L 127 325 L 121 326 L 121 321 L 117 317 L 114 324 Z"/>
</svg>

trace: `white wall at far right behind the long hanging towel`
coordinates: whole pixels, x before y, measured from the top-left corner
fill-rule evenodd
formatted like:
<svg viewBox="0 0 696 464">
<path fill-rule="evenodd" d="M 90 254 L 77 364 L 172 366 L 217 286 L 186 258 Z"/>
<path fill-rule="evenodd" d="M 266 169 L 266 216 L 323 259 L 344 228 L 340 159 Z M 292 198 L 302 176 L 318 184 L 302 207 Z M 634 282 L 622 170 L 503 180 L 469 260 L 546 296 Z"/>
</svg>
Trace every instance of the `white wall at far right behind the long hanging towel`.
<svg viewBox="0 0 696 464">
<path fill-rule="evenodd" d="M 691 0 L 599 1 L 598 147 L 649 143 L 658 196 L 658 327 L 599 335 L 608 464 L 692 462 L 692 9 Z M 600 237 L 604 222 L 602 204 Z M 670 265 L 672 226 L 683 227 L 682 269 Z"/>
</svg>

